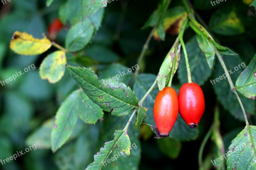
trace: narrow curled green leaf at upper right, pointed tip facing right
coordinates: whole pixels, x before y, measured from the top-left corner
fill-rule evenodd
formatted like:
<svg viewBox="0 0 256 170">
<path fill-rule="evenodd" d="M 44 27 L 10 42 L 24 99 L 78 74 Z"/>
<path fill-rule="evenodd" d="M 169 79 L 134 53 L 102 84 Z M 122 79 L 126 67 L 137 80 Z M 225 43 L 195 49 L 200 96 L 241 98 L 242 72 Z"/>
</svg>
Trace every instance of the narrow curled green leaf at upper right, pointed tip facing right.
<svg viewBox="0 0 256 170">
<path fill-rule="evenodd" d="M 219 45 L 217 42 L 215 42 L 212 38 L 212 36 L 207 32 L 207 30 L 201 25 L 199 24 L 194 18 L 189 16 L 189 25 L 191 26 L 191 28 L 197 33 L 197 34 L 203 34 L 206 38 L 209 39 L 209 41 L 213 44 L 213 46 L 215 46 L 218 51 L 220 52 L 220 54 L 224 54 L 224 55 L 236 55 L 236 53 L 234 53 L 233 51 L 231 51 L 229 48 L 227 47 L 223 47 L 221 45 Z"/>
</svg>

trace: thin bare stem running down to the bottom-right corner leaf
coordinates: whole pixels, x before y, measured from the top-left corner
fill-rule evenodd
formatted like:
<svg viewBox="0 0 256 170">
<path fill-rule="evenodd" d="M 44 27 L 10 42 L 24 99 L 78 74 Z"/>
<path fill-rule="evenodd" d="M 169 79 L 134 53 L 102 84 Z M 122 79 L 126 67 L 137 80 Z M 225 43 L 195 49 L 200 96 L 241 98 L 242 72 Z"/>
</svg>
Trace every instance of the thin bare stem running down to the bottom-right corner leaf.
<svg viewBox="0 0 256 170">
<path fill-rule="evenodd" d="M 232 90 L 232 92 L 235 93 L 236 98 L 237 98 L 237 100 L 238 100 L 238 102 L 239 102 L 239 104 L 240 104 L 240 106 L 241 106 L 241 108 L 242 108 L 242 111 L 243 111 L 243 114 L 244 114 L 244 119 L 245 119 L 245 122 L 246 122 L 246 126 L 249 126 L 249 122 L 248 122 L 248 120 L 247 120 L 247 116 L 246 116 L 246 114 L 245 114 L 245 110 L 244 110 L 244 106 L 243 106 L 243 104 L 242 104 L 242 101 L 241 101 L 240 97 L 238 96 L 238 94 L 237 94 L 237 92 L 236 92 L 236 87 L 235 87 L 235 85 L 233 84 L 233 82 L 232 82 L 232 80 L 231 80 L 231 78 L 230 78 L 230 76 L 229 76 L 228 69 L 227 69 L 227 67 L 226 67 L 226 65 L 225 65 L 225 63 L 224 63 L 224 61 L 223 61 L 223 58 L 221 57 L 220 52 L 219 52 L 216 48 L 215 48 L 215 54 L 217 55 L 217 57 L 218 57 L 218 59 L 219 59 L 219 61 L 220 61 L 220 64 L 221 64 L 223 70 L 225 71 L 225 73 L 226 73 L 226 75 L 227 75 L 228 83 L 229 83 L 229 85 L 230 85 L 230 87 L 231 87 L 231 90 Z"/>
</svg>

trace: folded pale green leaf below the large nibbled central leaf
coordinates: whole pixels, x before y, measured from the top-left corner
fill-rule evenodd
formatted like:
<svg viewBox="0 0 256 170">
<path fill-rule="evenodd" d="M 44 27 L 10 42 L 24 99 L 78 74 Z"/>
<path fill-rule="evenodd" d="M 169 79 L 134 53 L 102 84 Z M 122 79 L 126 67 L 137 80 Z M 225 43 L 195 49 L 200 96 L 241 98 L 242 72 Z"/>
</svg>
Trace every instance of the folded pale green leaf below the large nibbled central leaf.
<svg viewBox="0 0 256 170">
<path fill-rule="evenodd" d="M 84 122 L 93 124 L 103 117 L 102 110 L 87 99 L 81 89 L 72 92 L 56 113 L 52 129 L 53 152 L 68 140 L 76 124 L 77 116 Z"/>
</svg>

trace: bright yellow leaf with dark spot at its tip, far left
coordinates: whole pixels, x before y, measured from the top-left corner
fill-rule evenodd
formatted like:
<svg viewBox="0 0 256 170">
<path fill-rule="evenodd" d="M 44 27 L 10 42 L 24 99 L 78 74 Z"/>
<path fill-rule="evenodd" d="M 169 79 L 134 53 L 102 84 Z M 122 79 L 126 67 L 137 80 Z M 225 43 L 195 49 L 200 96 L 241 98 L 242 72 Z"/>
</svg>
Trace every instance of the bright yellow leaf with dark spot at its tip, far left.
<svg viewBox="0 0 256 170">
<path fill-rule="evenodd" d="M 16 31 L 10 43 L 10 48 L 17 54 L 37 55 L 47 51 L 52 46 L 51 41 L 44 36 L 43 39 L 34 38 L 26 32 Z"/>
</svg>

